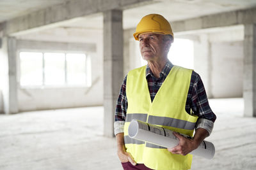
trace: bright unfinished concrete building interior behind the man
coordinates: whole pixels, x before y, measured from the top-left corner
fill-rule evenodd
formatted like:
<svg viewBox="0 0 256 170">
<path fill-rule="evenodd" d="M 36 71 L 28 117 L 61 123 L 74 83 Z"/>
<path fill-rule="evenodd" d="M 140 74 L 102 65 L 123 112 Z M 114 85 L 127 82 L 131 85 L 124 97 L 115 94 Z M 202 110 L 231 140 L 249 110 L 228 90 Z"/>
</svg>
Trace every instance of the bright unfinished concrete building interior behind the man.
<svg viewBox="0 0 256 170">
<path fill-rule="evenodd" d="M 146 64 L 132 34 L 149 13 L 172 25 L 168 58 L 200 74 L 217 116 L 215 157 L 192 169 L 256 169 L 255 0 L 0 1 L 0 169 L 122 169 L 116 99 Z"/>
</svg>

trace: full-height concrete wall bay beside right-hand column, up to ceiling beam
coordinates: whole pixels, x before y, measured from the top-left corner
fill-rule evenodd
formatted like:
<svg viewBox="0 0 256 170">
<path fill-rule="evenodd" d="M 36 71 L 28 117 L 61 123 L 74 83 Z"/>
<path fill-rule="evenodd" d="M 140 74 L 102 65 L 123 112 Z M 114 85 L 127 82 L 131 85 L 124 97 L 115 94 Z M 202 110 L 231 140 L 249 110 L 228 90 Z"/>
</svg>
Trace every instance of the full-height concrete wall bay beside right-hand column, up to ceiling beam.
<svg viewBox="0 0 256 170">
<path fill-rule="evenodd" d="M 243 39 L 241 25 L 209 33 L 213 98 L 243 97 Z"/>
</svg>

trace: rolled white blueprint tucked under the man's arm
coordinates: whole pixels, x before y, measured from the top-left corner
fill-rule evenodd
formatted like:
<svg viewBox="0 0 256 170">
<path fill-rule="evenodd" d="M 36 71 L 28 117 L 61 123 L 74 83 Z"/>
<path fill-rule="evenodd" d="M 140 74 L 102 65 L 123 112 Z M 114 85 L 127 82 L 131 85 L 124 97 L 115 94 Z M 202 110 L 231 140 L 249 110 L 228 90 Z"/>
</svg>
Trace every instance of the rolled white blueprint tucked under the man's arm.
<svg viewBox="0 0 256 170">
<path fill-rule="evenodd" d="M 163 146 L 165 148 L 173 148 L 179 145 L 179 138 L 173 135 L 173 131 L 158 127 L 157 125 L 148 124 L 140 120 L 132 120 L 128 127 L 128 135 L 130 138 L 152 143 L 154 145 Z M 186 138 L 191 138 L 185 134 L 180 134 Z M 202 141 L 198 148 L 193 150 L 191 154 L 212 159 L 215 154 L 214 145 L 209 141 Z"/>
</svg>

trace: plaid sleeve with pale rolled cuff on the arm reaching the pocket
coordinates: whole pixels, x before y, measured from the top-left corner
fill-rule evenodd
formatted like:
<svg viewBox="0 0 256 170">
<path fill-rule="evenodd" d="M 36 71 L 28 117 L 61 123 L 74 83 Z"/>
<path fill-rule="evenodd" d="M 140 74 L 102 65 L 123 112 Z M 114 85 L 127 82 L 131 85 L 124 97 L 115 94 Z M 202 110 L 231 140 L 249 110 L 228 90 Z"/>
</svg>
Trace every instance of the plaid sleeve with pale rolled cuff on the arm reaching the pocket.
<svg viewBox="0 0 256 170">
<path fill-rule="evenodd" d="M 126 97 L 126 80 L 127 76 L 125 76 L 124 81 L 122 83 L 119 96 L 116 102 L 116 111 L 115 111 L 115 135 L 118 133 L 124 132 L 124 122 L 127 112 L 127 97 Z"/>
</svg>

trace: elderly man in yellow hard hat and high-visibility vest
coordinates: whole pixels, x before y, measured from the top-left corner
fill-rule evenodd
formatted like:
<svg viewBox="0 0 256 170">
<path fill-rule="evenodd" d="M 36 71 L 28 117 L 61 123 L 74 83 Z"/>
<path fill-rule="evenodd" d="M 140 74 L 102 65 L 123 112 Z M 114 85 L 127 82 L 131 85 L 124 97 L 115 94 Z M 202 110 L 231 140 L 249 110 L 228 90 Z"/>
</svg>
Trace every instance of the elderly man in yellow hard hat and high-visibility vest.
<svg viewBox="0 0 256 170">
<path fill-rule="evenodd" d="M 148 64 L 130 71 L 120 90 L 114 124 L 118 157 L 124 169 L 190 169 L 188 153 L 211 134 L 216 120 L 202 80 L 195 71 L 168 60 L 173 32 L 163 16 L 141 18 L 133 36 Z M 175 131 L 179 145 L 163 148 L 129 138 L 134 118 Z"/>
</svg>

